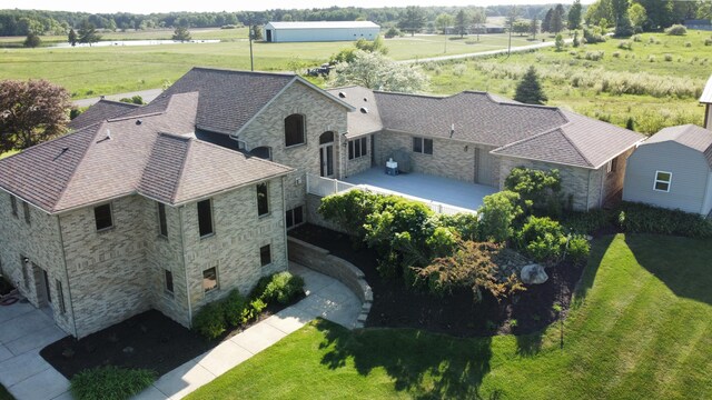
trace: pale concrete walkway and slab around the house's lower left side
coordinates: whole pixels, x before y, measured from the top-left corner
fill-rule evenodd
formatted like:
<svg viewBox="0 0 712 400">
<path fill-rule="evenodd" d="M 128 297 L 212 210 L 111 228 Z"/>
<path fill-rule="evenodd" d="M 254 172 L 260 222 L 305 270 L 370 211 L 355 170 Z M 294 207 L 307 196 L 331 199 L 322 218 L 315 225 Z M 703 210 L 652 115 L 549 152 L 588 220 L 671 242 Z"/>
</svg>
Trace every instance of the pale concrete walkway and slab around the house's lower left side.
<svg viewBox="0 0 712 400">
<path fill-rule="evenodd" d="M 305 280 L 304 300 L 164 374 L 135 399 L 180 399 L 317 317 L 355 327 L 362 303 L 354 292 L 306 267 L 290 263 L 289 270 Z M 0 307 L 0 383 L 17 400 L 71 400 L 69 381 L 39 356 L 66 336 L 29 303 Z"/>
</svg>

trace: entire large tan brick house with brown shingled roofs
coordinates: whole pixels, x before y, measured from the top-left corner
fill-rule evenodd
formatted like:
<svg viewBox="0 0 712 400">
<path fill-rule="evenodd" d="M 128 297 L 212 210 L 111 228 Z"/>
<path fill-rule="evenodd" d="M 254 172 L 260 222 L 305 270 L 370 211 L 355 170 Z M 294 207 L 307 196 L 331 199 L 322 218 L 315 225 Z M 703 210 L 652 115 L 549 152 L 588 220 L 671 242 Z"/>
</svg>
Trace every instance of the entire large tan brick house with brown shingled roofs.
<svg viewBox="0 0 712 400">
<path fill-rule="evenodd" d="M 0 160 L 0 268 L 78 338 L 149 308 L 189 327 L 207 302 L 285 270 L 286 230 L 320 222 L 308 177 L 338 186 L 393 157 L 501 189 L 515 167 L 558 169 L 587 210 L 620 192 L 642 139 L 482 92 L 325 91 L 206 68 L 147 106 L 101 101 L 71 127 Z"/>
</svg>

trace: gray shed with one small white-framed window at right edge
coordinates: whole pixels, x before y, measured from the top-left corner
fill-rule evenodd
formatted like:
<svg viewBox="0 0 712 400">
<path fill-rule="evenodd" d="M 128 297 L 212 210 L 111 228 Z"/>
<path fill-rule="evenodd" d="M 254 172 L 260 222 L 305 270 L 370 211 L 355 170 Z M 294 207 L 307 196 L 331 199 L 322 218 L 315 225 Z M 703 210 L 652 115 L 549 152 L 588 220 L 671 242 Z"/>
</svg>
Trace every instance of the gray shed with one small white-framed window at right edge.
<svg viewBox="0 0 712 400">
<path fill-rule="evenodd" d="M 712 131 L 665 128 L 627 160 L 623 200 L 706 216 L 712 211 Z"/>
</svg>

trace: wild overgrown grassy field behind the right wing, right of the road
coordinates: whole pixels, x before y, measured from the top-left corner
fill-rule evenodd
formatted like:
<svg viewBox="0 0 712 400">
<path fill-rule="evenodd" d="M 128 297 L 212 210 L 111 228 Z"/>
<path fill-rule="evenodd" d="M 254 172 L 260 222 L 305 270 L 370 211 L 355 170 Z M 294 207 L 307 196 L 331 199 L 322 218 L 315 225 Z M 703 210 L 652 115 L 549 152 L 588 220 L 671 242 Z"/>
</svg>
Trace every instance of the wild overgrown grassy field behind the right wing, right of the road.
<svg viewBox="0 0 712 400">
<path fill-rule="evenodd" d="M 630 40 L 631 50 L 619 49 L 620 40 L 610 39 L 561 52 L 551 48 L 425 68 L 433 92 L 483 90 L 511 98 L 522 73 L 535 66 L 547 104 L 620 126 L 632 117 L 635 129 L 644 133 L 674 124 L 702 124 L 704 110 L 698 98 L 712 71 L 712 46 L 704 44 L 710 32 L 691 31 L 685 37 L 644 33 L 641 38 L 641 42 Z M 586 53 L 592 58 L 599 51 L 603 52 L 601 60 L 586 59 Z"/>
</svg>

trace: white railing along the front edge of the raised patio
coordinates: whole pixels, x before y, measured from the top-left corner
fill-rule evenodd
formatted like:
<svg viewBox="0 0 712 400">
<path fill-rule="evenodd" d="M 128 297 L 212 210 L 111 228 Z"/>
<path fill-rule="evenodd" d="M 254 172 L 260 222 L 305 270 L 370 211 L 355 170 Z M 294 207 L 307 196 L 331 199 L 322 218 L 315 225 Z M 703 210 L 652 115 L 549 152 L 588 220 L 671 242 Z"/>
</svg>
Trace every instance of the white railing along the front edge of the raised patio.
<svg viewBox="0 0 712 400">
<path fill-rule="evenodd" d="M 427 200 L 423 198 L 417 198 L 415 196 L 404 194 L 400 192 L 373 187 L 370 184 L 357 186 L 357 184 L 339 181 L 338 179 L 324 178 L 313 173 L 307 173 L 307 193 L 309 194 L 326 197 L 334 193 L 345 192 L 352 189 L 358 189 L 358 190 L 364 190 L 367 192 L 379 193 L 379 194 L 395 194 L 408 200 L 419 201 L 426 204 L 427 207 L 429 207 L 429 209 L 436 213 L 444 213 L 448 216 L 456 214 L 456 213 L 476 213 L 475 210 L 445 204 L 438 201 Z"/>
</svg>

